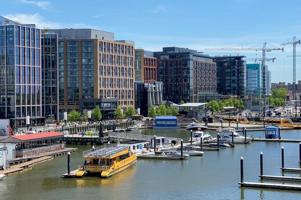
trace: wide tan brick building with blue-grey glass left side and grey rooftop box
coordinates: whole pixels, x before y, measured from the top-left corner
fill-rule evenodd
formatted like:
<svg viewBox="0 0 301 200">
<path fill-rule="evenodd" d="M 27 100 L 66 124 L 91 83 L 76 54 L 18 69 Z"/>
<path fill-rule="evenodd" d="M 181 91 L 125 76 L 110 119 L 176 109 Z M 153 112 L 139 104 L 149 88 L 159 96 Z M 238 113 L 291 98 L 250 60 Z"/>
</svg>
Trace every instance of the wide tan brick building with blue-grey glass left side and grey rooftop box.
<svg viewBox="0 0 301 200">
<path fill-rule="evenodd" d="M 80 110 L 83 99 L 118 98 L 121 107 L 134 106 L 133 41 L 114 41 L 114 33 L 93 29 L 52 32 L 59 38 L 59 118 Z"/>
</svg>

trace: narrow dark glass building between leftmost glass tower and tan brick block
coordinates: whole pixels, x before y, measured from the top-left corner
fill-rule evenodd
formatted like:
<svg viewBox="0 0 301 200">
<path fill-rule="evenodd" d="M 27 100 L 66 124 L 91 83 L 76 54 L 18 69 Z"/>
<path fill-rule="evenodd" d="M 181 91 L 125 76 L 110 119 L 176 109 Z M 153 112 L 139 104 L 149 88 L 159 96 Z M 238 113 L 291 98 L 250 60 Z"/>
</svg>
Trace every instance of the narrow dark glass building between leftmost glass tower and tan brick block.
<svg viewBox="0 0 301 200">
<path fill-rule="evenodd" d="M 42 116 L 45 123 L 59 119 L 59 71 L 57 34 L 41 34 Z"/>
</svg>

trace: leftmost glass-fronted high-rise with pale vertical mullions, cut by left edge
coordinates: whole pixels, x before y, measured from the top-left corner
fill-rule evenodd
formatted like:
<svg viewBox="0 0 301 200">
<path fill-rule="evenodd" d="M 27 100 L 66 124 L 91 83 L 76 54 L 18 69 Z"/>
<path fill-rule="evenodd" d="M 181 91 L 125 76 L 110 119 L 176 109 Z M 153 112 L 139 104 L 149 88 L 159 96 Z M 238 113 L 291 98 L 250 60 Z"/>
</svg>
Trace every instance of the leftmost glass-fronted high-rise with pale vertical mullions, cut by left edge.
<svg viewBox="0 0 301 200">
<path fill-rule="evenodd" d="M 8 22 L 6 18 L 4 20 Z M 30 116 L 32 124 L 44 123 L 41 113 L 40 29 L 17 22 L 1 24 L 0 118 L 11 119 L 11 127 L 26 126 L 26 116 Z"/>
</svg>

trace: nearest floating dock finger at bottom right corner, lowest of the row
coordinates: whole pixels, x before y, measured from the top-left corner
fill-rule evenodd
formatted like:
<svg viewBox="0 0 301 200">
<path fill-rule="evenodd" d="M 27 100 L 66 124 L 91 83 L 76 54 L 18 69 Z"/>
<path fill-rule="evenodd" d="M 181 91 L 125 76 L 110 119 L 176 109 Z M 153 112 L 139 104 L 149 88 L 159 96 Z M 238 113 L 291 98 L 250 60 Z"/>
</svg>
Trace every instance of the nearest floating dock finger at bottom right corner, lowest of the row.
<svg viewBox="0 0 301 200">
<path fill-rule="evenodd" d="M 278 190 L 295 190 L 301 191 L 301 185 L 288 185 L 288 184 L 271 184 L 271 183 L 252 183 L 244 182 L 238 183 L 242 187 L 258 187 L 258 188 L 269 188 Z"/>
</svg>

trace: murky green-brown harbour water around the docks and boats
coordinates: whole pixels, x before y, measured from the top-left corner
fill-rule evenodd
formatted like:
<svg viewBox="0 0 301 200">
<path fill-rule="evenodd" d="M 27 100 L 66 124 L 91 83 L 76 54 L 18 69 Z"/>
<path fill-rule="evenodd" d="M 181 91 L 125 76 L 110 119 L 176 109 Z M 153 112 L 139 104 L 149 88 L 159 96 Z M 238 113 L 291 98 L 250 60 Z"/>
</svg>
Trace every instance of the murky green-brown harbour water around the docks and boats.
<svg viewBox="0 0 301 200">
<path fill-rule="evenodd" d="M 208 131 L 213 136 L 215 131 Z M 148 135 L 170 136 L 188 141 L 190 132 L 184 129 L 142 129 L 131 131 Z M 300 130 L 282 131 L 286 139 L 301 139 Z M 264 132 L 248 132 L 264 137 Z M 298 199 L 301 192 L 271 189 L 241 188 L 240 157 L 244 157 L 244 179 L 260 182 L 259 154 L 263 152 L 264 174 L 281 176 L 281 147 L 284 146 L 285 167 L 299 168 L 298 143 L 251 142 L 219 152 L 206 151 L 202 157 L 185 160 L 138 160 L 133 167 L 102 179 L 85 177 L 60 178 L 67 170 L 67 156 L 38 163 L 32 170 L 4 177 L 0 181 L 0 200 L 9 199 Z M 83 164 L 82 151 L 90 145 L 67 145 L 78 148 L 71 154 L 71 170 Z M 299 173 L 286 176 L 301 177 Z M 274 183 L 265 181 L 266 183 Z M 279 182 L 275 182 L 279 183 Z M 290 183 L 295 184 L 295 183 Z"/>
</svg>

